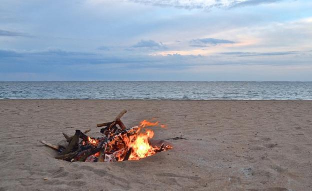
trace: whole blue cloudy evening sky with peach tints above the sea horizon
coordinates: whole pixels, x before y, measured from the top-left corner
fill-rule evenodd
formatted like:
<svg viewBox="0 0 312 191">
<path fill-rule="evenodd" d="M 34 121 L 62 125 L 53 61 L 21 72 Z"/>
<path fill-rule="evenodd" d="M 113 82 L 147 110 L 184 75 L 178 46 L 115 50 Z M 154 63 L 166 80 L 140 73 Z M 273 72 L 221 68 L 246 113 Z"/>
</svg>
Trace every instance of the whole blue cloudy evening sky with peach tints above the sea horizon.
<svg viewBox="0 0 312 191">
<path fill-rule="evenodd" d="M 0 81 L 312 81 L 311 0 L 1 0 Z"/>
</svg>

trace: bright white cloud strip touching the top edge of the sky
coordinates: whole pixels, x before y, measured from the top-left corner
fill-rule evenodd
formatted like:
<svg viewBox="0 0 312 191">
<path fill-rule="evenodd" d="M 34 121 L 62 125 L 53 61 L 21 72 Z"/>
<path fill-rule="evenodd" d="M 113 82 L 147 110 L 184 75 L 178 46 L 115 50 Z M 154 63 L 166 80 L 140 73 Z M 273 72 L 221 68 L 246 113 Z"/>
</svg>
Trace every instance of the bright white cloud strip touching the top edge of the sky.
<svg viewBox="0 0 312 191">
<path fill-rule="evenodd" d="M 281 0 L 126 0 L 155 6 L 171 6 L 185 9 L 205 9 L 212 7 L 231 8 L 238 6 L 251 6 L 262 3 L 273 3 Z"/>
</svg>

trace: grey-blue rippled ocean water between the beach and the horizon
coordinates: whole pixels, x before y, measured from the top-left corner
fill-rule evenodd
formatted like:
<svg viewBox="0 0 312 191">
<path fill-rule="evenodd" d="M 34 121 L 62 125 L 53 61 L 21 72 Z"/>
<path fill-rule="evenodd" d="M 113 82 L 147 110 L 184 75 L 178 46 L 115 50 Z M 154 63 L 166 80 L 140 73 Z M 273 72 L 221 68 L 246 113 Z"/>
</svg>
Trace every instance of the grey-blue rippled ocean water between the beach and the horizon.
<svg viewBox="0 0 312 191">
<path fill-rule="evenodd" d="M 0 82 L 0 99 L 312 100 L 312 82 Z"/>
</svg>

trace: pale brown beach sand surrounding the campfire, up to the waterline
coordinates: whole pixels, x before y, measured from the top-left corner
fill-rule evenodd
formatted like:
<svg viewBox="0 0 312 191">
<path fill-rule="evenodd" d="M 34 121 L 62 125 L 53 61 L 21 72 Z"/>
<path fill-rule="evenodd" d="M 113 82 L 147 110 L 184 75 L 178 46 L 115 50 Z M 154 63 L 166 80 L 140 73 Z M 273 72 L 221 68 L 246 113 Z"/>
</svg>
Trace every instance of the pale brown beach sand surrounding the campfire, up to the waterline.
<svg viewBox="0 0 312 191">
<path fill-rule="evenodd" d="M 173 149 L 139 161 L 69 163 L 42 146 L 127 109 L 156 117 Z M 312 101 L 1 100 L 0 191 L 310 191 Z M 47 180 L 44 180 L 47 178 Z"/>
</svg>

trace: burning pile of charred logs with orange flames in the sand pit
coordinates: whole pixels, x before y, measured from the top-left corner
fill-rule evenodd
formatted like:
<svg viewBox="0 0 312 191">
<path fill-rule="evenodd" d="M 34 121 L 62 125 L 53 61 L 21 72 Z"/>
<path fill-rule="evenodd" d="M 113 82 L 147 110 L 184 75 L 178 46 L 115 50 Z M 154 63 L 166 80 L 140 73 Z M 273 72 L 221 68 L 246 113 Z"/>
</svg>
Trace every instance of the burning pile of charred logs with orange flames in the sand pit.
<svg viewBox="0 0 312 191">
<path fill-rule="evenodd" d="M 166 151 L 172 148 L 168 144 L 152 145 L 150 139 L 154 132 L 146 129 L 148 126 L 160 126 L 159 122 L 141 121 L 139 126 L 127 129 L 121 122 L 120 118 L 126 113 L 126 110 L 121 111 L 114 121 L 97 124 L 103 135 L 99 138 L 86 136 L 80 130 L 76 130 L 72 137 L 64 134 L 68 145 L 51 145 L 45 141 L 40 141 L 42 144 L 58 151 L 59 156 L 55 159 L 61 159 L 70 162 L 113 162 L 126 160 L 139 160 L 155 153 Z M 65 143 L 66 143 L 65 142 Z"/>
</svg>

